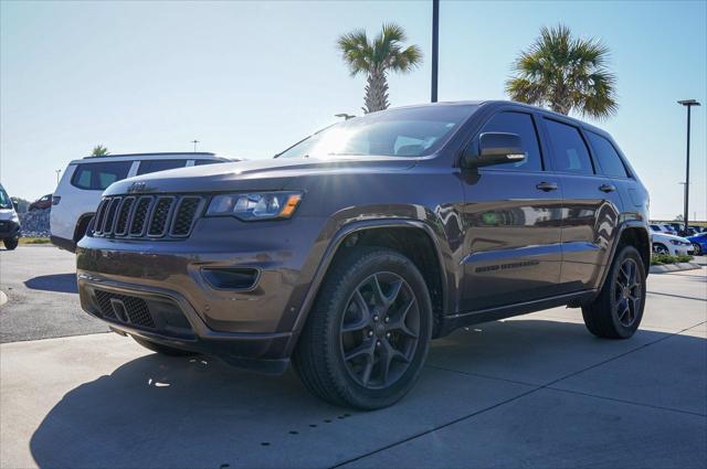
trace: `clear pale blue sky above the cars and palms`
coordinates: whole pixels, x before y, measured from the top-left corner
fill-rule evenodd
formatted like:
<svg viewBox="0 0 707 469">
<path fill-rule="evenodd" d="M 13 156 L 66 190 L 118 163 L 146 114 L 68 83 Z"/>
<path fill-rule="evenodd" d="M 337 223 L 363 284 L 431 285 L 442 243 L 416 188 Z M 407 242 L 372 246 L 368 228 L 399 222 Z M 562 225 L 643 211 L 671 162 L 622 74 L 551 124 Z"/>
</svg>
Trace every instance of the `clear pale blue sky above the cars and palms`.
<svg viewBox="0 0 707 469">
<path fill-rule="evenodd" d="M 612 51 L 619 114 L 611 131 L 652 193 L 652 214 L 683 211 L 685 110 L 707 105 L 707 3 L 441 4 L 440 99 L 504 98 L 517 53 L 563 22 Z M 0 177 L 8 191 L 52 192 L 55 169 L 96 143 L 114 152 L 200 149 L 266 158 L 360 114 L 363 77 L 335 49 L 355 28 L 395 21 L 425 64 L 392 76 L 393 106 L 430 96 L 431 1 L 2 1 Z M 693 113 L 692 212 L 707 217 L 706 113 Z"/>
</svg>

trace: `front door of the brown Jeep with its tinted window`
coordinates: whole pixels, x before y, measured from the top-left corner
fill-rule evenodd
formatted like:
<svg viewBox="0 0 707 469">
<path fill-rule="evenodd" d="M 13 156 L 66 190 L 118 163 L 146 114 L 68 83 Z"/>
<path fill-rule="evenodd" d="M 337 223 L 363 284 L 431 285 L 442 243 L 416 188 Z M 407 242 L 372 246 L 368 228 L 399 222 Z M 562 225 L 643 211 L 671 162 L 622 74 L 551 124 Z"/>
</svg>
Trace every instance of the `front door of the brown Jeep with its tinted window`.
<svg viewBox="0 0 707 469">
<path fill-rule="evenodd" d="M 463 171 L 464 311 L 549 297 L 560 279 L 560 180 L 546 171 L 536 117 L 517 109 L 494 115 L 479 134 L 517 134 L 528 158 Z"/>
</svg>

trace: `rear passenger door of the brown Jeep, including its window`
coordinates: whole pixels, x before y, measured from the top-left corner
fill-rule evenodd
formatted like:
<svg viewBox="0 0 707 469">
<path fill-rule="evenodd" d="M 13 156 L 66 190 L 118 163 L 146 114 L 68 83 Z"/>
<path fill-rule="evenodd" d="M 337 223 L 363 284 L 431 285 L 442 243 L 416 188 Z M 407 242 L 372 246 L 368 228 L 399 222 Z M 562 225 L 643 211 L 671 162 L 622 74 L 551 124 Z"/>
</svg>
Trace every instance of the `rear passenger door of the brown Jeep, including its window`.
<svg viewBox="0 0 707 469">
<path fill-rule="evenodd" d="M 542 120 L 563 188 L 560 292 L 597 288 L 619 224 L 618 186 L 600 173 L 578 126 L 569 119 Z"/>
</svg>

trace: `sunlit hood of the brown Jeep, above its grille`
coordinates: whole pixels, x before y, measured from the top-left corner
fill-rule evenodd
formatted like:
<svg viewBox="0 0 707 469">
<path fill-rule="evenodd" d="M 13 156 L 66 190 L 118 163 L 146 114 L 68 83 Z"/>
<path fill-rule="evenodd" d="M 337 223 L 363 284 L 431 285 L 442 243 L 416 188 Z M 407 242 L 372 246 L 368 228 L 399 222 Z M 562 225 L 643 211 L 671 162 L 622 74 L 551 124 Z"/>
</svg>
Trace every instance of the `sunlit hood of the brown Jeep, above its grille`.
<svg viewBox="0 0 707 469">
<path fill-rule="evenodd" d="M 273 158 L 205 164 L 128 178 L 115 182 L 104 195 L 127 193 L 208 193 L 295 189 L 302 177 L 335 173 L 397 172 L 415 166 L 401 157 L 336 157 L 336 159 Z"/>
</svg>

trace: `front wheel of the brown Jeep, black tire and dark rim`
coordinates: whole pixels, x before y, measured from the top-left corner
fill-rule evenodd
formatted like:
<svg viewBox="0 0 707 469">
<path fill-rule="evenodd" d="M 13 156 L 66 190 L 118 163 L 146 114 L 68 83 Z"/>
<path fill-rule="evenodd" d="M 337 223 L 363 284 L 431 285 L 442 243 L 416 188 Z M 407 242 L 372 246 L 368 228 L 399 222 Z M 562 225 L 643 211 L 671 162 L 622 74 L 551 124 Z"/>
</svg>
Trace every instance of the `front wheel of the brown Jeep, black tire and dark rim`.
<svg viewBox="0 0 707 469">
<path fill-rule="evenodd" d="M 293 364 L 331 404 L 387 407 L 420 376 L 431 334 L 432 302 L 414 264 L 392 249 L 352 248 L 329 269 Z"/>
</svg>

